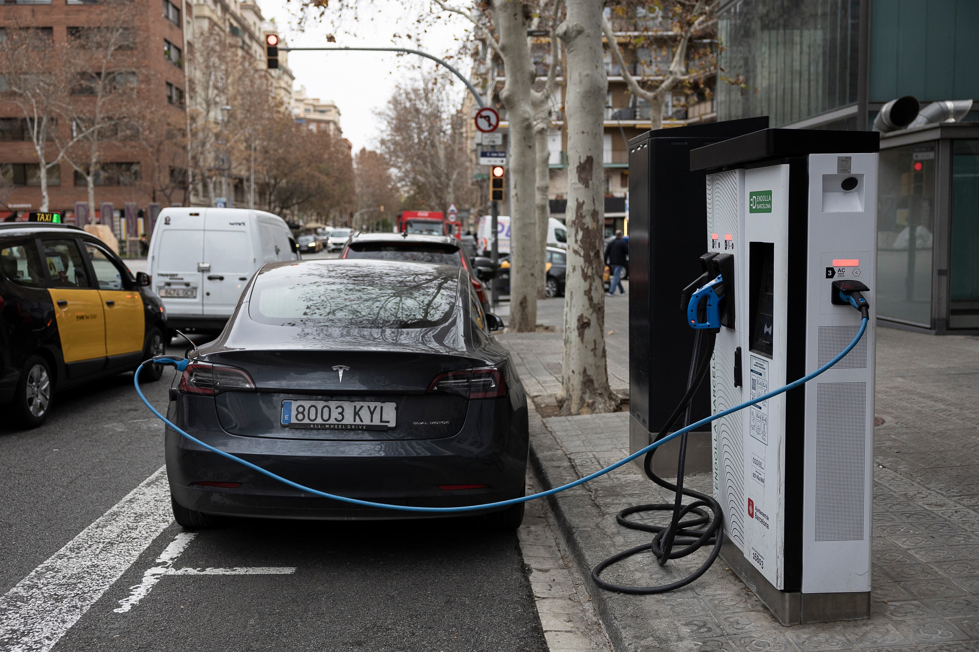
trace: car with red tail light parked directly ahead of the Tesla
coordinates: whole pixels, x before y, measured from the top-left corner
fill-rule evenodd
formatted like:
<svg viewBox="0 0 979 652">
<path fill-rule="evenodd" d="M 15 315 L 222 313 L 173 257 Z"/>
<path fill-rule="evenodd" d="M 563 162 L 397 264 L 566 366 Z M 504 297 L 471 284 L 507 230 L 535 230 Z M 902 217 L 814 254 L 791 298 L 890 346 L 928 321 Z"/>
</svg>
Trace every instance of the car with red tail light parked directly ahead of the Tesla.
<svg viewBox="0 0 979 652">
<path fill-rule="evenodd" d="M 489 291 L 484 281 L 489 281 L 491 274 L 477 268 L 459 240 L 452 236 L 357 234 L 350 239 L 340 257 L 408 260 L 461 267 L 469 273 L 483 310 L 489 312 Z"/>
</svg>

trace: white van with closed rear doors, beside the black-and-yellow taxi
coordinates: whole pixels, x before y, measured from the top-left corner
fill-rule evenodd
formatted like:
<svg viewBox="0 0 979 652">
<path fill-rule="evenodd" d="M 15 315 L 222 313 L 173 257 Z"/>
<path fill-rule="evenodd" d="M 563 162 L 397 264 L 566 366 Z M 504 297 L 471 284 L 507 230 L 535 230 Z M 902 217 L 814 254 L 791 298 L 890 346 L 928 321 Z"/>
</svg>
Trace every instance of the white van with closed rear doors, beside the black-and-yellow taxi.
<svg viewBox="0 0 979 652">
<path fill-rule="evenodd" d="M 247 208 L 164 208 L 150 239 L 148 268 L 166 325 L 219 331 L 265 263 L 299 259 L 278 215 Z"/>
</svg>

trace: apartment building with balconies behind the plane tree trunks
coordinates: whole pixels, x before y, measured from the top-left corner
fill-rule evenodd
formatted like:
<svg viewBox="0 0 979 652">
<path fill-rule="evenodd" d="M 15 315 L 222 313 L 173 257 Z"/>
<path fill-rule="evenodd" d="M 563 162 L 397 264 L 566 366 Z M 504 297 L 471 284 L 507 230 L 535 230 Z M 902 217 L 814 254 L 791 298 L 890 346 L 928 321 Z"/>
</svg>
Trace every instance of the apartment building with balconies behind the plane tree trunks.
<svg viewBox="0 0 979 652">
<path fill-rule="evenodd" d="M 628 62 L 629 73 L 638 78 L 644 86 L 655 88 L 657 81 L 664 79 L 674 57 L 676 34 L 671 30 L 671 22 L 659 13 L 638 11 L 635 16 L 615 17 L 609 10 L 606 14 L 612 23 L 616 40 L 623 56 Z M 701 50 L 706 49 L 710 56 L 711 33 L 699 34 L 698 41 Z M 707 46 L 706 48 L 704 46 Z M 560 44 L 559 44 L 560 48 Z M 550 62 L 550 36 L 536 36 L 531 46 L 531 56 L 534 59 L 537 79 L 546 78 Z M 560 52 L 560 50 L 559 50 Z M 473 68 L 474 81 L 477 85 L 491 75 L 492 84 L 487 94 L 488 105 L 500 111 L 500 131 L 505 133 L 507 127 L 506 110 L 503 109 L 499 93 L 506 83 L 506 76 L 500 73 L 502 65 L 493 62 L 491 51 L 484 49 L 482 56 L 477 58 Z M 563 55 L 559 54 L 559 61 Z M 663 127 L 676 127 L 700 122 L 717 120 L 714 104 L 714 88 L 717 83 L 716 65 L 704 65 L 704 61 L 689 62 L 691 72 L 696 71 L 697 79 L 692 84 L 691 93 L 680 92 L 668 94 L 663 106 L 661 117 Z M 640 98 L 629 93 L 623 71 L 613 62 L 612 54 L 606 43 L 605 72 L 608 75 L 608 90 L 605 101 L 604 134 L 603 134 L 603 167 L 605 170 L 605 233 L 611 236 L 618 229 L 626 228 L 627 195 L 629 191 L 629 154 L 627 143 L 629 139 L 638 136 L 651 128 L 650 107 Z M 550 150 L 550 213 L 552 217 L 565 219 L 568 192 L 568 137 L 565 129 L 564 115 L 560 111 L 564 96 L 563 71 L 558 65 L 557 98 L 552 102 L 552 121 L 548 134 L 548 149 Z M 479 136 L 474 136 L 477 141 Z M 474 144 L 474 155 L 480 149 Z M 491 149 L 491 148 L 488 148 Z M 497 148 L 500 149 L 500 148 Z M 478 178 L 484 170 L 477 168 Z M 504 208 L 500 208 L 501 213 Z"/>
</svg>

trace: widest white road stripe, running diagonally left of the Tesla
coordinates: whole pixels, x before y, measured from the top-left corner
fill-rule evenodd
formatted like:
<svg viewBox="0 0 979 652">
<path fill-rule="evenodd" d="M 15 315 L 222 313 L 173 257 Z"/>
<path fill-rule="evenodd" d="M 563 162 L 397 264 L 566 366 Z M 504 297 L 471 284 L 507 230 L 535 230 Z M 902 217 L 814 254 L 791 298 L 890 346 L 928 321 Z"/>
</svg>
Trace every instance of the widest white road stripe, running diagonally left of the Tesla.
<svg viewBox="0 0 979 652">
<path fill-rule="evenodd" d="M 47 652 L 173 521 L 158 469 L 0 597 L 0 649 Z"/>
</svg>

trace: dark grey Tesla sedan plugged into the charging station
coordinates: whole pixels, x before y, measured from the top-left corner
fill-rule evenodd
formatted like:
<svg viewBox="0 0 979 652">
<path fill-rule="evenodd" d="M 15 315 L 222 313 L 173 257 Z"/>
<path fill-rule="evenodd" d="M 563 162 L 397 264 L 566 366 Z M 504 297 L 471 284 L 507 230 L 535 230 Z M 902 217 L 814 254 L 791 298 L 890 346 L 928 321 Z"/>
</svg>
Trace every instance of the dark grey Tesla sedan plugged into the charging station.
<svg viewBox="0 0 979 652">
<path fill-rule="evenodd" d="M 527 398 L 465 270 L 387 260 L 262 267 L 220 337 L 174 378 L 167 418 L 307 487 L 458 506 L 524 495 Z M 303 494 L 166 429 L 177 523 L 431 514 Z M 519 527 L 523 503 L 486 514 Z M 213 519 L 210 519 L 211 521 Z"/>
</svg>

